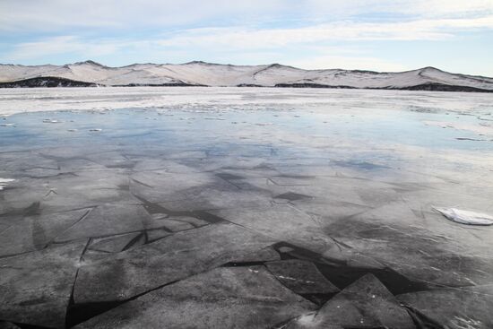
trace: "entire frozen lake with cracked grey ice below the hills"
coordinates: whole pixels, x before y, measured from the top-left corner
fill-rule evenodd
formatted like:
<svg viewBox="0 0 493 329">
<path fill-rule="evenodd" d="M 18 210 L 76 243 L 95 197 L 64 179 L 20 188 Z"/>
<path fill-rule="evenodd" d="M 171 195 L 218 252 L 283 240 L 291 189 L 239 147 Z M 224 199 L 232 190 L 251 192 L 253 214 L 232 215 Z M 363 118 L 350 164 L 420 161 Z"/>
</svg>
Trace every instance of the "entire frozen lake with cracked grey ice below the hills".
<svg viewBox="0 0 493 329">
<path fill-rule="evenodd" d="M 493 214 L 493 94 L 0 89 L 0 116 L 0 320 L 493 327 L 493 226 L 434 210 Z"/>
</svg>

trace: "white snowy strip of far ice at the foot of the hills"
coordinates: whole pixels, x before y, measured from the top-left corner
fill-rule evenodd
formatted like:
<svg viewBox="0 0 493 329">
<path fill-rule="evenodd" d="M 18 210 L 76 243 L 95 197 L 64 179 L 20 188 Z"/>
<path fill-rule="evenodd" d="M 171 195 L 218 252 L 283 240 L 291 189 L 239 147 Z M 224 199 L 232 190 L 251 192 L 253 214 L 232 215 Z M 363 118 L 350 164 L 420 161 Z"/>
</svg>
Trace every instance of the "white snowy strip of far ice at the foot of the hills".
<svg viewBox="0 0 493 329">
<path fill-rule="evenodd" d="M 11 116 L 15 113 L 34 111 L 72 111 L 89 110 L 99 113 L 108 113 L 116 108 L 156 108 L 167 117 L 178 116 L 172 109 L 183 109 L 186 117 L 195 117 L 193 114 L 221 114 L 227 111 L 252 111 L 255 109 L 299 109 L 307 108 L 313 111 L 319 106 L 338 109 L 334 113 L 343 117 L 355 108 L 373 108 L 379 111 L 382 108 L 408 108 L 413 113 L 428 114 L 423 120 L 429 122 L 430 114 L 440 112 L 467 113 L 474 109 L 479 117 L 488 119 L 489 101 L 491 94 L 443 93 L 422 91 L 365 91 L 365 90 L 321 90 L 321 89 L 276 89 L 276 88 L 164 88 L 164 87 L 112 87 L 112 88 L 57 88 L 55 91 L 48 88 L 34 89 L 1 89 L 0 116 Z M 26 101 L 27 100 L 27 101 Z M 344 111 L 341 111 L 344 109 Z M 431 113 L 429 113 L 431 112 Z M 291 116 L 296 114 L 288 112 Z M 309 113 L 309 112 L 308 112 Z M 281 117 L 286 113 L 279 113 Z M 353 113 L 351 113 L 353 114 Z M 362 113 L 359 113 L 361 115 Z M 368 117 L 366 112 L 363 117 Z M 372 113 L 375 115 L 375 113 Z M 41 117 L 45 119 L 50 114 Z M 185 117 L 185 116 L 184 116 Z M 302 116 L 300 116 L 301 118 Z M 322 118 L 316 116 L 318 118 Z M 323 117 L 321 123 L 328 125 L 335 117 Z M 349 116 L 350 117 L 350 116 Z M 465 116 L 462 116 L 464 119 Z M 275 117 L 263 117 L 260 122 L 272 122 Z M 453 117 L 433 116 L 435 121 L 446 122 L 447 125 L 464 125 L 464 122 L 455 122 Z M 467 118 L 467 117 L 466 117 Z M 52 117 L 52 119 L 57 119 Z M 58 118 L 59 119 L 59 118 Z M 443 119 L 443 120 L 442 120 Z M 230 121 L 238 122 L 243 126 L 245 121 L 232 117 Z M 228 124 L 229 122 L 228 121 Z M 452 121 L 452 122 L 451 122 Z M 207 120 L 209 124 L 213 120 Z M 483 120 L 483 123 L 489 121 Z M 259 122 L 255 122 L 259 123 Z M 65 123 L 66 124 L 66 123 Z M 56 127 L 65 124 L 54 125 Z M 480 125 L 478 125 L 480 126 Z M 91 128 L 101 128 L 98 122 Z M 262 126 L 256 126 L 258 129 Z M 46 128 L 46 127 L 45 127 Z M 483 128 L 481 128 L 483 129 Z M 445 129 L 446 130 L 446 129 Z"/>
</svg>

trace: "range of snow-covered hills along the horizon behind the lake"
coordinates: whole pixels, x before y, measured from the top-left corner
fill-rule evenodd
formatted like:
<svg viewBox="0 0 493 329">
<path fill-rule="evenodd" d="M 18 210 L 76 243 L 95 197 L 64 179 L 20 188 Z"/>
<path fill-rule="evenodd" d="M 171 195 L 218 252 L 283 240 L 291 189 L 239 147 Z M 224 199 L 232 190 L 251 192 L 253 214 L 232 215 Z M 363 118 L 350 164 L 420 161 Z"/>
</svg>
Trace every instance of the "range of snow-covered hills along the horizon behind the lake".
<svg viewBox="0 0 493 329">
<path fill-rule="evenodd" d="M 134 64 L 108 67 L 92 61 L 69 65 L 0 65 L 0 87 L 57 86 L 261 86 L 491 91 L 493 78 L 450 74 L 434 67 L 401 73 L 303 70 L 286 65 Z"/>
</svg>

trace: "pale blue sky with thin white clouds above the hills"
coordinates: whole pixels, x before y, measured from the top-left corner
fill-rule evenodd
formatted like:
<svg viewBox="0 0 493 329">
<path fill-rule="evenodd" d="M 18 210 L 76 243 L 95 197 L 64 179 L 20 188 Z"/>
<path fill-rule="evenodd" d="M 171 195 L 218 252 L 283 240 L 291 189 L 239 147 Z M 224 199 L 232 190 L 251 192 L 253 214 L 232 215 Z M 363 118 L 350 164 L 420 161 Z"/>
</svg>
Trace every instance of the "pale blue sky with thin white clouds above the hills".
<svg viewBox="0 0 493 329">
<path fill-rule="evenodd" d="M 88 59 L 493 76 L 493 0 L 0 0 L 0 63 Z"/>
</svg>

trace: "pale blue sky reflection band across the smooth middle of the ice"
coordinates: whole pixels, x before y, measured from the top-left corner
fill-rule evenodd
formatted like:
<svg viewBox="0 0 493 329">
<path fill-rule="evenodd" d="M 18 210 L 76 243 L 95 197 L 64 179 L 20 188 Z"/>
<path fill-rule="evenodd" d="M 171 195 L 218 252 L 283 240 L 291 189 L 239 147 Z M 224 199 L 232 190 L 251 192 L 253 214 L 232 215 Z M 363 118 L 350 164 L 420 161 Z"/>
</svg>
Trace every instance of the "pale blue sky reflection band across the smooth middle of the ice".
<svg viewBox="0 0 493 329">
<path fill-rule="evenodd" d="M 270 96 L 262 93 L 261 97 L 255 97 L 260 103 L 257 108 L 242 110 L 238 104 L 221 104 L 232 96 L 226 92 L 224 99 L 224 94 L 217 92 L 220 105 L 216 108 L 208 107 L 210 104 L 201 108 L 197 103 L 193 108 L 18 114 L 3 120 L 15 126 L 0 129 L 0 145 L 8 150 L 21 145 L 40 148 L 59 143 L 73 147 L 119 143 L 128 149 L 150 147 L 162 151 L 180 146 L 215 154 L 264 156 L 274 152 L 278 157 L 324 159 L 323 163 L 332 160 L 340 164 L 347 161 L 352 167 L 369 162 L 391 168 L 402 165 L 392 161 L 414 161 L 414 165 L 419 166 L 419 162 L 427 159 L 460 158 L 462 153 L 488 157 L 493 151 L 489 121 L 479 120 L 468 106 L 458 108 L 455 104 L 454 112 L 439 107 L 442 94 L 449 93 L 430 93 L 431 100 L 423 97 L 428 96 L 427 93 L 410 97 L 411 102 L 419 97 L 424 103 L 433 101 L 429 109 L 410 106 L 410 100 L 394 93 L 384 93 L 378 98 L 371 92 L 358 91 L 365 92 L 365 98 L 358 102 L 348 91 L 333 92 L 334 97 L 340 99 L 346 92 L 349 100 L 345 100 L 344 106 L 300 102 L 287 108 L 282 101 L 277 105 L 263 105 L 262 100 Z M 450 95 L 456 97 L 455 93 Z M 464 98 L 470 95 L 471 103 L 477 103 L 476 107 L 480 108 L 482 118 L 493 119 L 487 102 L 479 102 L 477 94 L 465 94 Z M 282 96 L 291 98 L 289 93 Z M 254 96 L 246 91 L 243 98 L 254 99 Z M 455 129 L 457 126 L 470 129 Z M 479 132 L 474 127 L 480 129 Z"/>
</svg>

